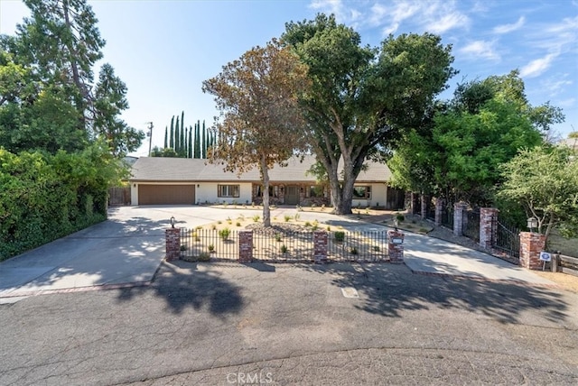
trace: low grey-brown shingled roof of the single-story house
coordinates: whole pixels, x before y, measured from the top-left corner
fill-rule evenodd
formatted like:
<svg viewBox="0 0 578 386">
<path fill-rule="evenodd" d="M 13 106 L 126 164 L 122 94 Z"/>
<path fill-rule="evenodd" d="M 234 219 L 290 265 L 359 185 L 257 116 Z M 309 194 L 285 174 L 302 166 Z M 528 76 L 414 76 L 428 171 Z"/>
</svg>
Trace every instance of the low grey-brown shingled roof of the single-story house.
<svg viewBox="0 0 578 386">
<path fill-rule="evenodd" d="M 315 162 L 315 157 L 306 156 L 303 161 L 292 158 L 286 167 L 275 165 L 269 170 L 272 182 L 315 182 L 315 177 L 309 175 L 309 170 Z M 391 171 L 385 163 L 367 161 L 367 170 L 362 170 L 358 182 L 385 182 L 391 179 Z M 244 181 L 259 182 L 259 171 L 254 168 L 239 176 L 237 173 L 224 171 L 223 164 L 211 164 L 207 160 L 191 158 L 141 157 L 132 169 L 131 181 L 147 182 L 219 182 Z"/>
</svg>

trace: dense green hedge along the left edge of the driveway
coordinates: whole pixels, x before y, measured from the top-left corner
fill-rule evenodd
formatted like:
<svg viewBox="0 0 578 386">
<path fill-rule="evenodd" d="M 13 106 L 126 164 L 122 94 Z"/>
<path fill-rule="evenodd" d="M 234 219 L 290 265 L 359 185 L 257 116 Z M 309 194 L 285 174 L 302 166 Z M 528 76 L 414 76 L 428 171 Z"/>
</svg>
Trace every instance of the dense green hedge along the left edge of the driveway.
<svg viewBox="0 0 578 386">
<path fill-rule="evenodd" d="M 97 145 L 55 155 L 0 148 L 0 261 L 104 221 L 118 168 Z"/>
</svg>

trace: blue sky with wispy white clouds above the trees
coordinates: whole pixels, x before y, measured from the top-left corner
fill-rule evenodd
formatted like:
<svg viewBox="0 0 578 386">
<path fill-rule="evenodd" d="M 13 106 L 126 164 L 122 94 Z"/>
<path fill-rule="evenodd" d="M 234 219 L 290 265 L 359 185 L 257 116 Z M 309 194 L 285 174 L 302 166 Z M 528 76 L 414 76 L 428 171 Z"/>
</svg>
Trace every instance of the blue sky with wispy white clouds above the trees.
<svg viewBox="0 0 578 386">
<path fill-rule="evenodd" d="M 555 126 L 565 137 L 578 131 L 578 0 L 263 0 L 89 1 L 107 41 L 104 62 L 128 87 L 127 124 L 145 130 L 154 122 L 153 146 L 163 145 L 172 115 L 185 124 L 217 115 L 201 82 L 228 61 L 284 32 L 284 23 L 336 14 L 364 43 L 377 46 L 388 33 L 433 32 L 452 44 L 453 67 L 442 97 L 464 79 L 519 69 L 534 106 L 564 109 Z M 14 34 L 28 14 L 20 0 L 0 0 L 0 33 Z M 98 69 L 95 75 L 98 76 Z M 135 155 L 148 152 L 148 139 Z"/>
</svg>

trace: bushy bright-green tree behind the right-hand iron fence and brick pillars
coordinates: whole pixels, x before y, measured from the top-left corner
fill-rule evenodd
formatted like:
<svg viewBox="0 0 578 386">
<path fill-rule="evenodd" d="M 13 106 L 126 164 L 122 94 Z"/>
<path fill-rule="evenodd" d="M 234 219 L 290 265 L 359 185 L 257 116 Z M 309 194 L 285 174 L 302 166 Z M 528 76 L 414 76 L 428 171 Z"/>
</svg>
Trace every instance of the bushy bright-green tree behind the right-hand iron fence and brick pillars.
<svg viewBox="0 0 578 386">
<path fill-rule="evenodd" d="M 512 71 L 459 85 L 431 122 L 406 133 L 389 166 L 400 188 L 483 206 L 502 179 L 500 165 L 542 142 L 536 109 Z"/>
</svg>

